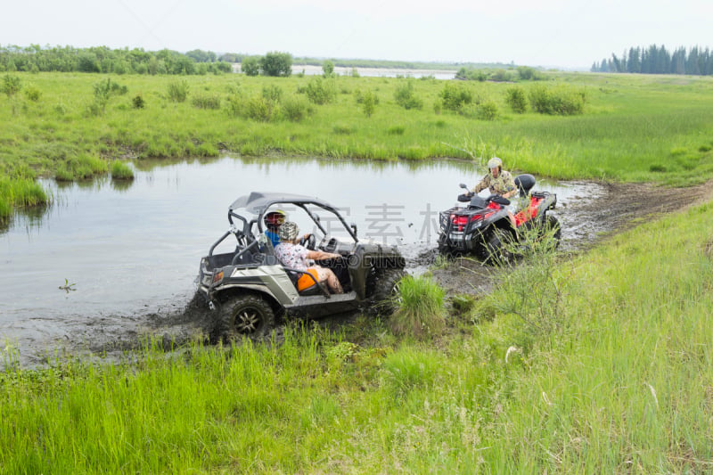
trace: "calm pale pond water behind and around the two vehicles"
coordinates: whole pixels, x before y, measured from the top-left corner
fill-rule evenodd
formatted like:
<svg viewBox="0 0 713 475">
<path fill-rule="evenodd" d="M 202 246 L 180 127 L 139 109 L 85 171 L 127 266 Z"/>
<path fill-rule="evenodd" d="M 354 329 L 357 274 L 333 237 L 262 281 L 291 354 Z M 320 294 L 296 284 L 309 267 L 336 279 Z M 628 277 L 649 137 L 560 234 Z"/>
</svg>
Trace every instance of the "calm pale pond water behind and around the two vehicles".
<svg viewBox="0 0 713 475">
<path fill-rule="evenodd" d="M 65 340 L 139 332 L 146 315 L 184 307 L 201 256 L 228 228 L 226 212 L 250 192 L 283 191 L 332 202 L 360 237 L 397 243 L 416 272 L 436 246 L 438 210 L 458 184 L 483 170 L 470 163 L 382 163 L 224 157 L 142 162 L 131 184 L 103 179 L 58 186 L 55 203 L 16 215 L 0 232 L 0 349 L 51 350 Z M 559 206 L 596 190 L 538 182 Z M 568 232 L 564 222 L 564 237 Z"/>
</svg>

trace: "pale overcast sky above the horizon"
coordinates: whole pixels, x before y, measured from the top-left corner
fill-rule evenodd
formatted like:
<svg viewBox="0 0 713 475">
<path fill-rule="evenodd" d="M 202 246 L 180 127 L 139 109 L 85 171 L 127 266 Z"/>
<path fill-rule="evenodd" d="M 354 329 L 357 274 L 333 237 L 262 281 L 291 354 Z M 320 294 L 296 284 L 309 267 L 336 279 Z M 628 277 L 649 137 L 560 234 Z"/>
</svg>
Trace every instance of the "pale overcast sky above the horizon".
<svg viewBox="0 0 713 475">
<path fill-rule="evenodd" d="M 713 0 L 24 0 L 0 45 L 105 45 L 580 68 L 630 46 L 713 47 Z"/>
</svg>

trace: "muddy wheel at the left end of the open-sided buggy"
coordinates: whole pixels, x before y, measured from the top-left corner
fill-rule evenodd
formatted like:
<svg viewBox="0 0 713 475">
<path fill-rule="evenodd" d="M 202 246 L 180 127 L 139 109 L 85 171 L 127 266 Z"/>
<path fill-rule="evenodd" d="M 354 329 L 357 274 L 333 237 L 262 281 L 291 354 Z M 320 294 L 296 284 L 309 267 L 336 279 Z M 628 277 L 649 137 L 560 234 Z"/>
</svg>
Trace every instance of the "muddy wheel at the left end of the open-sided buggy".
<svg viewBox="0 0 713 475">
<path fill-rule="evenodd" d="M 252 340 L 266 337 L 275 327 L 275 312 L 257 295 L 240 295 L 227 299 L 220 307 L 218 337 L 234 340 L 242 336 Z"/>
</svg>

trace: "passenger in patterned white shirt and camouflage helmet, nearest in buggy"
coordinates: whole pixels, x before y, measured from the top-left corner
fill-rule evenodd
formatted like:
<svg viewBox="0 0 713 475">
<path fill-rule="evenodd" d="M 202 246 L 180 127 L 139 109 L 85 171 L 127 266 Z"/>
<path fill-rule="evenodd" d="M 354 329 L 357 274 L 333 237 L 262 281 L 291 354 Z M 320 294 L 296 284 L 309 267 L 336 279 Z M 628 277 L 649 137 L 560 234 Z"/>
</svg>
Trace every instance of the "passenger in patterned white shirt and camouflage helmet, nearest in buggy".
<svg viewBox="0 0 713 475">
<path fill-rule="evenodd" d="M 327 287 L 332 293 L 344 293 L 340 281 L 337 275 L 332 272 L 332 269 L 315 266 L 312 262 L 313 260 L 341 258 L 340 254 L 321 250 L 308 250 L 306 247 L 299 245 L 297 243 L 299 227 L 291 221 L 287 221 L 280 226 L 279 235 L 280 243 L 275 247 L 275 257 L 283 266 L 316 275 L 316 279 L 319 282 L 327 283 Z"/>
</svg>

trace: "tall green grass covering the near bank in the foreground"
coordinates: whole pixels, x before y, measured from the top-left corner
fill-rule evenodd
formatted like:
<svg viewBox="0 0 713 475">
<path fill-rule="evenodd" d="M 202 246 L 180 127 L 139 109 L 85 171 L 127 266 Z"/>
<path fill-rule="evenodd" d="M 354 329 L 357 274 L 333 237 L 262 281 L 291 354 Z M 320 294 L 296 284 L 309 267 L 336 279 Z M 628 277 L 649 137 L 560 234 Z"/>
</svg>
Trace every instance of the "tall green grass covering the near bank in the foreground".
<svg viewBox="0 0 713 475">
<path fill-rule="evenodd" d="M 548 332 L 475 305 L 428 342 L 371 321 L 369 343 L 288 327 L 280 345 L 9 364 L 0 471 L 710 471 L 712 211 L 562 262 Z"/>
</svg>

